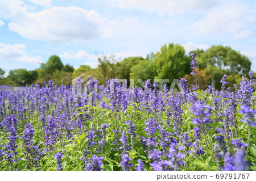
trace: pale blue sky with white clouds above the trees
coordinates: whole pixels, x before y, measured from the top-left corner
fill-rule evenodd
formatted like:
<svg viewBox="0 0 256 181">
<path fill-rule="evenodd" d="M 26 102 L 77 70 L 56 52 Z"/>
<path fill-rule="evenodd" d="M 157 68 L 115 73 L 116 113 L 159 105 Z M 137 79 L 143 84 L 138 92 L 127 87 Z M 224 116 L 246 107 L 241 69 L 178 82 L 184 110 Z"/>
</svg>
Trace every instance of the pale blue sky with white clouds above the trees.
<svg viewBox="0 0 256 181">
<path fill-rule="evenodd" d="M 216 0 L 205 9 L 212 1 L 0 0 L 0 67 L 33 70 L 57 54 L 75 68 L 96 68 L 93 51 L 120 60 L 146 57 L 171 43 L 204 11 L 174 43 L 187 52 L 230 46 L 249 57 L 256 71 L 256 2 Z"/>
</svg>

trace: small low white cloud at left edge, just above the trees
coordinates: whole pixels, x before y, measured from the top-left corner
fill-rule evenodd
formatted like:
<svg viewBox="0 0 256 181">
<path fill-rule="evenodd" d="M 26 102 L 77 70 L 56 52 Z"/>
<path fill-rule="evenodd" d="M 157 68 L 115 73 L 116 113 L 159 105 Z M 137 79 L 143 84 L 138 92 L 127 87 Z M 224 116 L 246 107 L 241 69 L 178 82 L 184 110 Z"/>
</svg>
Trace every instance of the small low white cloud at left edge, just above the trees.
<svg viewBox="0 0 256 181">
<path fill-rule="evenodd" d="M 30 64 L 43 62 L 40 57 L 29 57 L 24 50 L 24 44 L 3 44 L 0 43 L 0 61 L 19 61 Z"/>
</svg>

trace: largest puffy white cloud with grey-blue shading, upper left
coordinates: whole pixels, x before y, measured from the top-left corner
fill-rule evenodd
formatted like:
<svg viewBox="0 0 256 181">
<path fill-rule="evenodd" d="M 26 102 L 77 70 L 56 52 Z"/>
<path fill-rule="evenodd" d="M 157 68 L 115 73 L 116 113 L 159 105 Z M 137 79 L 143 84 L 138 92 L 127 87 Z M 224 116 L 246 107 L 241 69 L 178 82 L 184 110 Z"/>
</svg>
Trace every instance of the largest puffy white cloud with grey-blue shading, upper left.
<svg viewBox="0 0 256 181">
<path fill-rule="evenodd" d="M 34 3 L 39 1 L 33 1 Z M 112 35 L 111 24 L 94 10 L 80 7 L 51 7 L 38 12 L 28 12 L 20 0 L 0 1 L 0 18 L 8 19 L 9 28 L 23 37 L 32 40 L 44 40 L 51 43 L 68 43 L 79 37 L 68 28 L 70 26 L 82 39 L 92 40 L 100 36 Z M 56 16 L 56 14 L 68 26 Z"/>
</svg>

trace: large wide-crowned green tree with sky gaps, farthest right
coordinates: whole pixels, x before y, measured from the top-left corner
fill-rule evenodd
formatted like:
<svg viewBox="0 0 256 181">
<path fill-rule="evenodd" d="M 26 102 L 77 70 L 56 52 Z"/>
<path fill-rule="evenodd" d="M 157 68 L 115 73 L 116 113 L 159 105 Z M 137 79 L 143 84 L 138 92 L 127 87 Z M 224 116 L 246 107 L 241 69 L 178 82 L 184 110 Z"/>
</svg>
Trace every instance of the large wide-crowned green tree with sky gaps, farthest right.
<svg viewBox="0 0 256 181">
<path fill-rule="evenodd" d="M 228 75 L 228 86 L 232 87 L 234 83 L 239 84 L 241 76 L 247 76 L 250 71 L 250 60 L 231 49 L 222 45 L 212 46 L 206 51 L 193 50 L 190 53 L 195 53 L 197 66 L 200 69 L 205 69 L 208 75 L 216 81 L 216 89 L 221 89 L 220 80 L 224 74 Z M 232 88 L 233 89 L 233 88 Z"/>
</svg>

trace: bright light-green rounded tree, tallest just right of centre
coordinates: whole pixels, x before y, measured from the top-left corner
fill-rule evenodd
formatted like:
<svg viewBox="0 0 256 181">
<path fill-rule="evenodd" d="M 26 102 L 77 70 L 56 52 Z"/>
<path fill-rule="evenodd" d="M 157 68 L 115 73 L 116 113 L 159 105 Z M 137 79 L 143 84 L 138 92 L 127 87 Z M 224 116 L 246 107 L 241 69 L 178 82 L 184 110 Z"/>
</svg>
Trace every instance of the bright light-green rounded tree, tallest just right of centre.
<svg viewBox="0 0 256 181">
<path fill-rule="evenodd" d="M 168 48 L 163 45 L 156 57 L 150 65 L 154 67 L 155 78 L 172 81 L 184 77 L 190 71 L 189 57 L 185 55 L 185 49 L 181 45 L 170 44 Z"/>
</svg>

